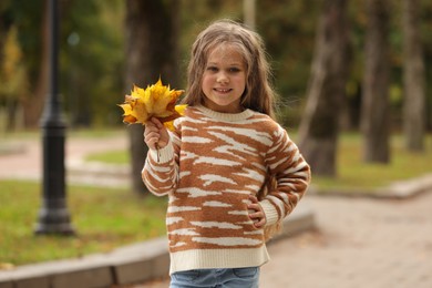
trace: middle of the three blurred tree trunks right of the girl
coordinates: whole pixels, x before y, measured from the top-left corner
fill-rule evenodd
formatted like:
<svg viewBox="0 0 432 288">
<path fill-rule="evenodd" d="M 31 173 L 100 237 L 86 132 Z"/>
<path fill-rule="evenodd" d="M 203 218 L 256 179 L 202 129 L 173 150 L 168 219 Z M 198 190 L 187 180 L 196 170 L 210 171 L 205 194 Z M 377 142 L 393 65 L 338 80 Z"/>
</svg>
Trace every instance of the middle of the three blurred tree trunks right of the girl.
<svg viewBox="0 0 432 288">
<path fill-rule="evenodd" d="M 368 31 L 361 128 L 363 161 L 390 161 L 389 111 L 389 4 L 387 0 L 368 0 Z"/>
</svg>

